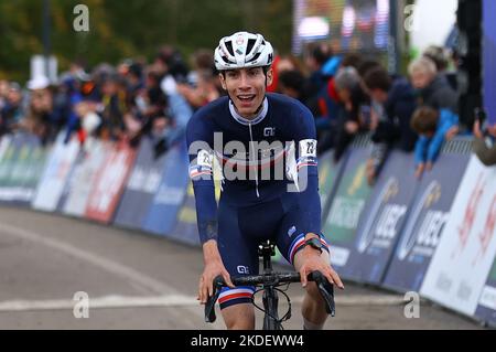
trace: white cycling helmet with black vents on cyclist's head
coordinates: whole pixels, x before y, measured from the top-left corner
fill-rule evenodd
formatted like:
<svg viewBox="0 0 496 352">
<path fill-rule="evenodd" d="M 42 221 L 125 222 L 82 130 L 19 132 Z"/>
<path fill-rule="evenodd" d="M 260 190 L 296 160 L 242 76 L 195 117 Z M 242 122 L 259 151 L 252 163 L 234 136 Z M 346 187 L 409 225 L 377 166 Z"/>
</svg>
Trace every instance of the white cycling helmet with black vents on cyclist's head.
<svg viewBox="0 0 496 352">
<path fill-rule="evenodd" d="M 218 42 L 214 60 L 218 71 L 270 66 L 273 50 L 261 34 L 237 32 Z"/>
</svg>

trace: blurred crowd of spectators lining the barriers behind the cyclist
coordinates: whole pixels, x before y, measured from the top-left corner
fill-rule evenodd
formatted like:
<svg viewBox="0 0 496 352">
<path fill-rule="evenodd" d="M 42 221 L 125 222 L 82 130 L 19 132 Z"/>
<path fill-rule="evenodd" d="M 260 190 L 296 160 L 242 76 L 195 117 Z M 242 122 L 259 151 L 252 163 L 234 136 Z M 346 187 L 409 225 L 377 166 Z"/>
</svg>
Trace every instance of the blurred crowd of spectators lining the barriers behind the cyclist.
<svg viewBox="0 0 496 352">
<path fill-rule="evenodd" d="M 370 184 L 392 148 L 414 151 L 420 177 L 433 167 L 443 141 L 457 134 L 473 132 L 477 154 L 495 163 L 496 126 L 460 121 L 456 75 L 448 67 L 442 47 L 429 47 L 403 77 L 390 74 L 378 57 L 333 54 L 321 42 L 309 45 L 301 61 L 277 55 L 268 92 L 309 107 L 319 153 L 332 149 L 335 162 L 357 134 L 369 131 Z M 46 143 L 64 130 L 65 140 L 76 135 L 84 142 L 93 136 L 138 146 L 147 135 L 160 156 L 183 137 L 194 110 L 224 94 L 209 50 L 198 50 L 186 62 L 179 51 L 164 46 L 151 63 L 126 60 L 117 66 L 100 64 L 90 73 L 73 63 L 57 83 L 36 76 L 22 89 L 15 82 L 0 81 L 0 136 L 25 130 Z"/>
</svg>

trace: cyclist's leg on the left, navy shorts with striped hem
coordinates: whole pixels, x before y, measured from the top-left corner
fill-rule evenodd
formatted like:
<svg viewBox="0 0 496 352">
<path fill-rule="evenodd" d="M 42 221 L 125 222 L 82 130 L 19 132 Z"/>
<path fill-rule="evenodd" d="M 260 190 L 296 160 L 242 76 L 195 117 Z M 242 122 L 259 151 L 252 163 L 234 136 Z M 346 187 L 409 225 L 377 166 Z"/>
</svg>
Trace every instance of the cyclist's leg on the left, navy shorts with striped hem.
<svg viewBox="0 0 496 352">
<path fill-rule="evenodd" d="M 230 276 L 258 273 L 257 245 L 248 243 L 239 228 L 238 210 L 219 202 L 218 249 Z M 220 311 L 227 329 L 255 329 L 251 305 L 254 287 L 224 288 L 219 296 Z"/>
</svg>

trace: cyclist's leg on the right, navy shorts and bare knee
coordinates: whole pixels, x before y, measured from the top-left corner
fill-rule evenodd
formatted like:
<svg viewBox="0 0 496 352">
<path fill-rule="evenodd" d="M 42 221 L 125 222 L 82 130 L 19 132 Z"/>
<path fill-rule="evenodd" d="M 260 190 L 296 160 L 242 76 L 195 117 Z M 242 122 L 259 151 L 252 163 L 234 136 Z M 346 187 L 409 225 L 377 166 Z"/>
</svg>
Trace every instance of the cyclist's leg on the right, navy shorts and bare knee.
<svg viewBox="0 0 496 352">
<path fill-rule="evenodd" d="M 284 202 L 288 203 L 290 198 L 287 196 Z M 298 204 L 293 205 L 284 215 L 281 222 L 277 244 L 278 248 L 284 258 L 294 266 L 296 271 L 300 271 L 303 260 L 301 257 L 302 252 L 298 252 L 298 248 L 303 245 L 305 233 L 303 232 L 302 221 L 300 220 L 301 211 Z M 325 238 L 322 238 L 323 243 L 327 243 Z M 322 259 L 330 263 L 328 249 L 323 250 L 321 255 Z M 305 321 L 306 329 L 322 328 L 327 313 L 325 311 L 325 302 L 319 291 L 319 288 L 314 282 L 309 282 L 305 287 L 306 294 L 302 305 L 302 316 Z"/>
</svg>

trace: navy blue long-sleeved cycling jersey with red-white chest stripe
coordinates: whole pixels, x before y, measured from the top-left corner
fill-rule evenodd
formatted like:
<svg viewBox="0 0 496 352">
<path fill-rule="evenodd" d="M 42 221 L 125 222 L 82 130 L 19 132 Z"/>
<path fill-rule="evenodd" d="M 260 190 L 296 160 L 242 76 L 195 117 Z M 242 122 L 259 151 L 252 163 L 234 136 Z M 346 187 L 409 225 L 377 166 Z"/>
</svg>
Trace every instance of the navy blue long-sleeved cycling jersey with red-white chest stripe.
<svg viewBox="0 0 496 352">
<path fill-rule="evenodd" d="M 246 119 L 222 97 L 194 114 L 186 140 L 202 243 L 218 235 L 214 158 L 223 171 L 220 203 L 256 207 L 281 199 L 298 205 L 300 233 L 320 234 L 315 126 L 300 102 L 267 94 L 258 115 Z"/>
</svg>

